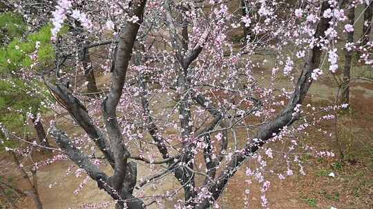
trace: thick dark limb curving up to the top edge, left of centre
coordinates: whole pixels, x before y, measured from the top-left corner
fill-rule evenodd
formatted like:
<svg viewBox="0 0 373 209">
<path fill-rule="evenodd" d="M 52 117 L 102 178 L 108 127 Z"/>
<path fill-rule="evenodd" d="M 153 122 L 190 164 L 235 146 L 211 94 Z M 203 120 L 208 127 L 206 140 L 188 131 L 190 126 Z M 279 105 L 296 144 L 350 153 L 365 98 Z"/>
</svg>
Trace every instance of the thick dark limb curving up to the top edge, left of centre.
<svg viewBox="0 0 373 209">
<path fill-rule="evenodd" d="M 146 0 L 133 2 L 133 10 L 130 16 L 138 17 L 139 21 L 137 23 L 127 22 L 126 26 L 122 28 L 116 50 L 115 65 L 111 72 L 111 89 L 102 103 L 106 131 L 111 142 L 115 161 L 115 170 L 111 181 L 115 190 L 119 191 L 122 191 L 124 177 L 126 176 L 127 159 L 130 153 L 122 143 L 122 131 L 117 120 L 116 109 L 122 96 L 128 63 L 131 60 L 133 44 L 142 23 L 145 4 Z"/>
</svg>

